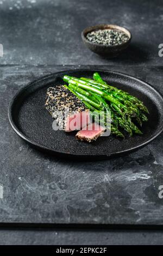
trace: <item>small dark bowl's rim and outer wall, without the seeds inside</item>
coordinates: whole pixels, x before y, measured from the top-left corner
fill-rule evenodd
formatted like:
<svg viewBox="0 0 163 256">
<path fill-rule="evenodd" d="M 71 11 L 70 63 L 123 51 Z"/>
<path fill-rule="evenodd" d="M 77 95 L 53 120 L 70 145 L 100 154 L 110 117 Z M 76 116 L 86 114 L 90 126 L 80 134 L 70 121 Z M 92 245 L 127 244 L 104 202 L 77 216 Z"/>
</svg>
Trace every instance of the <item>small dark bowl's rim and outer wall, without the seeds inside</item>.
<svg viewBox="0 0 163 256">
<path fill-rule="evenodd" d="M 123 33 L 126 33 L 129 37 L 127 42 L 123 42 L 120 45 L 102 45 L 102 44 L 95 44 L 94 42 L 91 42 L 86 39 L 87 33 L 90 33 L 92 31 L 97 31 L 99 29 L 115 29 L 118 31 L 122 31 Z M 93 27 L 85 28 L 82 32 L 82 40 L 84 44 L 92 51 L 99 55 L 106 56 L 109 58 L 116 57 L 118 54 L 120 54 L 124 49 L 126 49 L 131 41 L 132 35 L 131 33 L 124 27 L 116 26 L 116 25 L 96 25 Z"/>
</svg>

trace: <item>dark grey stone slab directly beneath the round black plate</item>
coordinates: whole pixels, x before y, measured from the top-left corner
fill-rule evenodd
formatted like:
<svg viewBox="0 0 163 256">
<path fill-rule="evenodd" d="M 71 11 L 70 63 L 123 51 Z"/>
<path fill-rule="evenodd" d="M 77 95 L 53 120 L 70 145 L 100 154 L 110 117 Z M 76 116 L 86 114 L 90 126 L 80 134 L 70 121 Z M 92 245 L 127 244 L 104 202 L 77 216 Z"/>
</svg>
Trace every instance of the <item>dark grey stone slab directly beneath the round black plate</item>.
<svg viewBox="0 0 163 256">
<path fill-rule="evenodd" d="M 7 107 L 14 93 L 36 77 L 70 68 L 77 67 L 1 69 L 1 222 L 163 224 L 162 134 L 128 156 L 74 162 L 40 153 L 12 131 Z M 162 93 L 161 67 L 109 69 L 141 77 Z"/>
</svg>

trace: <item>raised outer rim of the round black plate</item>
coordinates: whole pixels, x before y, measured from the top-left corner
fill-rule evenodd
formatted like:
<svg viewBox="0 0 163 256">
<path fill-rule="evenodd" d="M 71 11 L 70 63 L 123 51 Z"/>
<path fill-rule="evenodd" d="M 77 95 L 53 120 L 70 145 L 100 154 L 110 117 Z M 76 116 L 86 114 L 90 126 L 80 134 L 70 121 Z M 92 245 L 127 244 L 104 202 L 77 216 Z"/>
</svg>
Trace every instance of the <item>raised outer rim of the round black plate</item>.
<svg viewBox="0 0 163 256">
<path fill-rule="evenodd" d="M 73 72 L 73 71 L 94 71 L 95 69 L 85 69 L 85 68 L 80 68 L 80 69 L 68 69 L 68 70 L 62 70 L 62 71 L 58 71 L 58 72 L 54 72 L 52 74 L 48 74 L 48 75 L 45 75 L 45 76 L 41 76 L 39 78 L 35 78 L 34 80 L 28 82 L 26 84 L 26 86 L 23 86 L 20 90 L 18 90 L 18 92 L 12 97 L 10 103 L 9 103 L 9 106 L 8 106 L 8 118 L 9 118 L 9 123 L 12 127 L 12 129 L 17 133 L 17 135 L 19 137 L 21 137 L 24 141 L 26 141 L 27 143 L 29 143 L 30 145 L 33 145 L 34 147 L 36 147 L 37 149 L 40 149 L 42 151 L 48 151 L 48 153 L 52 153 L 52 154 L 55 154 L 55 155 L 62 155 L 64 157 L 74 157 L 74 156 L 77 156 L 79 158 L 82 158 L 82 159 L 91 159 L 92 160 L 92 157 L 95 157 L 96 156 L 96 160 L 100 160 L 100 159 L 108 159 L 110 157 L 114 157 L 114 156 L 118 156 L 118 155 L 122 155 L 122 154 L 127 154 L 127 153 L 130 153 L 132 151 L 135 151 L 136 149 L 139 149 L 139 148 L 142 148 L 142 147 L 145 147 L 145 145 L 149 144 L 150 142 L 152 142 L 156 137 L 158 137 L 161 132 L 163 131 L 163 120 L 162 120 L 162 127 L 160 129 L 160 131 L 158 133 L 156 133 L 155 136 L 153 136 L 151 139 L 148 139 L 146 142 L 143 142 L 139 145 L 136 145 L 136 147 L 133 147 L 133 148 L 129 148 L 129 149 L 125 149 L 125 150 L 120 150 L 120 151 L 116 151 L 115 153 L 111 153 L 111 154 L 99 154 L 99 155 L 93 155 L 93 154 L 89 154 L 89 155 L 84 155 L 84 154 L 80 154 L 79 153 L 66 153 L 66 152 L 63 152 L 63 151 L 59 151 L 59 150 L 54 150 L 52 148 L 48 148 L 46 146 L 43 146 L 39 143 L 36 143 L 34 141 L 32 141 L 31 139 L 29 139 L 28 137 L 26 137 L 19 129 L 18 127 L 16 126 L 15 122 L 14 122 L 14 119 L 12 117 L 12 108 L 13 108 L 13 105 L 14 105 L 14 102 L 16 100 L 16 98 L 22 93 L 24 92 L 24 90 L 26 90 L 27 88 L 29 88 L 30 86 L 32 86 L 34 83 L 36 82 L 39 82 L 40 80 L 42 81 L 43 79 L 46 79 L 48 77 L 51 77 L 51 76 L 54 76 L 54 75 L 59 75 L 59 74 L 62 74 L 63 72 Z M 126 76 L 132 80 L 135 80 L 135 81 L 138 81 L 138 82 L 141 82 L 141 83 L 144 83 L 146 86 L 148 86 L 150 89 L 154 90 L 155 93 L 157 93 L 161 100 L 162 100 L 162 103 L 163 103 L 163 96 L 162 94 L 157 90 L 155 89 L 153 86 L 151 86 L 151 84 L 141 80 L 140 78 L 137 78 L 135 76 L 131 76 L 131 75 L 128 75 L 128 74 L 125 74 L 123 72 L 117 72 L 115 70 L 105 70 L 105 69 L 96 69 L 97 72 L 111 72 L 112 74 L 116 74 L 116 75 L 122 75 L 122 76 Z"/>
</svg>

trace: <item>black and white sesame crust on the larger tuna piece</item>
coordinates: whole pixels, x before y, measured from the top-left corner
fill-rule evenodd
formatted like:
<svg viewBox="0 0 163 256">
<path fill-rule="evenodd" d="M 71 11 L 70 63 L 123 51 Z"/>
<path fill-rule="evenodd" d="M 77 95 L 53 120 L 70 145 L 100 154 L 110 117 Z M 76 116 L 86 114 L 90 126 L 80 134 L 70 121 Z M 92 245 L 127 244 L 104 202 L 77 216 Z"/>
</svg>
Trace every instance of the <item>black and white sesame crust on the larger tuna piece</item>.
<svg viewBox="0 0 163 256">
<path fill-rule="evenodd" d="M 65 130 L 65 120 L 68 115 L 86 110 L 84 103 L 62 85 L 47 89 L 45 107 L 63 130 Z M 69 112 L 65 114 L 67 108 Z M 56 113 L 58 111 L 64 116 L 64 122 L 60 115 Z"/>
</svg>

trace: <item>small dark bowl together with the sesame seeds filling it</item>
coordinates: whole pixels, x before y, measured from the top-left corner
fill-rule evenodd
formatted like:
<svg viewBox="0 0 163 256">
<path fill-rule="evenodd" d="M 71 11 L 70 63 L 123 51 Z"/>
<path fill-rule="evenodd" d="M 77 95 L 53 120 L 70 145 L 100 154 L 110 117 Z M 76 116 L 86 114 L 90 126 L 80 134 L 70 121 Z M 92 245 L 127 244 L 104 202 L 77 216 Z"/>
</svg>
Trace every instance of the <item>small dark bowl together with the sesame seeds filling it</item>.
<svg viewBox="0 0 163 256">
<path fill-rule="evenodd" d="M 131 33 L 116 25 L 97 25 L 84 29 L 82 39 L 92 52 L 112 58 L 128 47 Z"/>
</svg>

